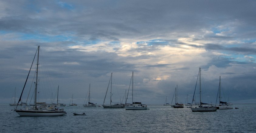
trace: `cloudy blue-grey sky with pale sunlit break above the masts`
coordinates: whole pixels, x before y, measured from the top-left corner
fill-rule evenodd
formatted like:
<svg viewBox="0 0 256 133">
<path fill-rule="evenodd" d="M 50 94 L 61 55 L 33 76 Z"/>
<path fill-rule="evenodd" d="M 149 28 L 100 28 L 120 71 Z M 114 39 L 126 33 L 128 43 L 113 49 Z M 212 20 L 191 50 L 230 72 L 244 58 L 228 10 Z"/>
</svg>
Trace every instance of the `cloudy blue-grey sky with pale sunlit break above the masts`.
<svg viewBox="0 0 256 133">
<path fill-rule="evenodd" d="M 216 103 L 220 77 L 222 101 L 256 103 L 255 9 L 254 0 L 0 0 L 0 103 L 18 101 L 38 46 L 39 102 L 56 103 L 59 86 L 59 103 L 87 103 L 90 84 L 90 102 L 107 94 L 109 104 L 113 73 L 112 102 L 131 103 L 134 72 L 134 101 L 174 103 L 178 86 L 178 102 L 191 103 L 201 68 L 204 103 Z"/>
</svg>

